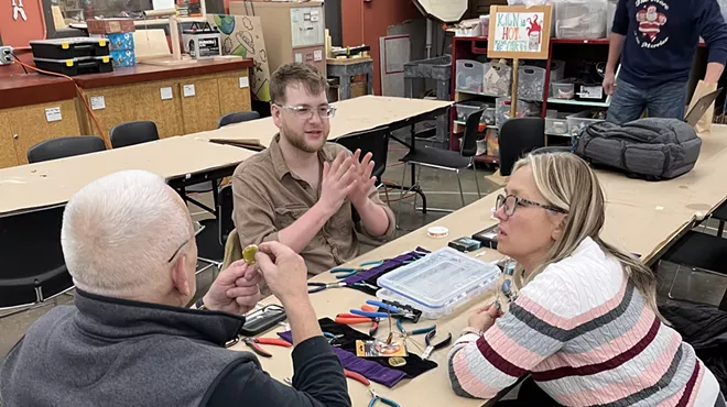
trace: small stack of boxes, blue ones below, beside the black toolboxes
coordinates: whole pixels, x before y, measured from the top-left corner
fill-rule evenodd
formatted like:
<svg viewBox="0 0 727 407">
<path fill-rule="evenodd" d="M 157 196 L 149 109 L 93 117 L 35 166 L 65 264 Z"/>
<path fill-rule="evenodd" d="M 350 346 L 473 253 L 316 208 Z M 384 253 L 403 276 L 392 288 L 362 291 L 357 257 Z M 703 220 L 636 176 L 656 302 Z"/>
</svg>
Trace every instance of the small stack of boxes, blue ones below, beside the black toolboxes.
<svg viewBox="0 0 727 407">
<path fill-rule="evenodd" d="M 133 32 L 137 28 L 132 20 L 88 20 L 86 24 L 88 25 L 88 34 L 105 37 L 109 41 L 115 68 L 137 65 L 133 44 Z"/>
</svg>

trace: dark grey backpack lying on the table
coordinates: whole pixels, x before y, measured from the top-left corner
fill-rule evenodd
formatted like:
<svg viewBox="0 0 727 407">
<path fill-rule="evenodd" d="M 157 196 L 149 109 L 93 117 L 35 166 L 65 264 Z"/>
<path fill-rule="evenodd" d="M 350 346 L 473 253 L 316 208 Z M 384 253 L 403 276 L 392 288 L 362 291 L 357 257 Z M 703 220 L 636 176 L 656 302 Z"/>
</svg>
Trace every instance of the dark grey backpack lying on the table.
<svg viewBox="0 0 727 407">
<path fill-rule="evenodd" d="M 639 119 L 618 125 L 598 122 L 580 130 L 574 152 L 595 166 L 623 170 L 649 180 L 688 173 L 699 156 L 702 139 L 676 119 Z"/>
</svg>

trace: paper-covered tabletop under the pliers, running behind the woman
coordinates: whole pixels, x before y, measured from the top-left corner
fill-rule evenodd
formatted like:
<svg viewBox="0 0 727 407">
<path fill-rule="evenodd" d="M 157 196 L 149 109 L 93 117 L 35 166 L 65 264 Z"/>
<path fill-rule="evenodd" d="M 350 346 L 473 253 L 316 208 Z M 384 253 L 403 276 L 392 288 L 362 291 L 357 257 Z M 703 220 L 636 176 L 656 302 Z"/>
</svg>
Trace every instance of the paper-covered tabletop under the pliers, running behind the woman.
<svg viewBox="0 0 727 407">
<path fill-rule="evenodd" d="M 629 179 L 623 175 L 598 172 L 606 194 L 606 223 L 601 237 L 605 241 L 622 248 L 631 253 L 640 254 L 647 264 L 653 264 L 663 253 L 664 249 L 685 233 L 701 217 L 707 215 L 712 208 L 717 207 L 727 196 L 727 185 L 723 182 L 727 170 L 727 127 L 713 127 L 712 134 L 703 134 L 704 144 L 702 156 L 696 168 L 673 180 L 649 183 L 639 179 Z M 360 263 L 381 260 L 409 252 L 417 246 L 434 251 L 445 246 L 451 240 L 459 237 L 469 237 L 497 223 L 491 218 L 491 208 L 501 190 L 445 217 L 398 240 L 375 249 L 365 255 L 343 265 L 356 267 Z M 699 208 L 707 208 L 706 211 Z M 442 226 L 449 229 L 449 235 L 444 239 L 430 238 L 426 229 Z M 481 254 L 484 252 L 484 254 Z M 493 250 L 485 249 L 473 252 L 478 258 L 490 262 L 502 256 Z M 336 278 L 330 273 L 324 273 L 312 280 L 332 283 Z M 318 318 L 335 318 L 339 312 L 359 308 L 367 299 L 372 297 L 349 289 L 334 288 L 312 294 L 311 300 Z M 488 292 L 455 310 L 454 314 L 436 320 L 437 336 L 451 332 L 457 338 L 462 329 L 467 326 L 469 315 L 477 308 L 489 305 L 495 299 L 495 292 Z M 262 301 L 264 305 L 279 304 L 273 297 Z M 419 327 L 431 326 L 432 321 L 422 320 Z M 368 330 L 368 326 L 354 326 Z M 414 327 L 414 326 L 412 326 Z M 413 329 L 413 328 L 412 328 Z M 276 328 L 265 337 L 275 337 Z M 381 323 L 379 336 L 388 334 L 388 327 Z M 454 341 L 453 341 L 454 343 Z M 237 344 L 232 350 L 247 351 L 248 348 Z M 387 396 L 401 406 L 480 406 L 485 400 L 462 398 L 456 396 L 449 387 L 447 377 L 446 356 L 451 348 L 435 351 L 432 360 L 438 367 L 426 372 L 414 380 L 404 380 L 393 388 L 387 388 L 377 383 L 371 387 L 377 393 Z M 270 346 L 273 358 L 261 360 L 262 367 L 276 380 L 290 377 L 292 372 L 290 349 Z M 410 348 L 410 351 L 420 353 Z M 352 405 L 367 406 L 370 395 L 364 385 L 348 381 L 349 395 Z M 489 403 L 488 403 L 489 405 Z"/>
</svg>

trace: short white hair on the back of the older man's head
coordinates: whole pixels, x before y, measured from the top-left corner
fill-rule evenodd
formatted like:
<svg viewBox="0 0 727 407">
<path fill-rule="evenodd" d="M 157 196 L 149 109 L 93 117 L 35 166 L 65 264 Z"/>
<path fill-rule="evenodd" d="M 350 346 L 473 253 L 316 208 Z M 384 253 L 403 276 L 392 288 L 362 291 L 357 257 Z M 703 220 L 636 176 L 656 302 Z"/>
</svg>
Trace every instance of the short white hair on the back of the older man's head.
<svg viewBox="0 0 727 407">
<path fill-rule="evenodd" d="M 171 285 L 169 258 L 192 237 L 189 212 L 164 179 L 123 170 L 82 188 L 63 215 L 61 243 L 77 288 L 145 297 Z"/>
</svg>

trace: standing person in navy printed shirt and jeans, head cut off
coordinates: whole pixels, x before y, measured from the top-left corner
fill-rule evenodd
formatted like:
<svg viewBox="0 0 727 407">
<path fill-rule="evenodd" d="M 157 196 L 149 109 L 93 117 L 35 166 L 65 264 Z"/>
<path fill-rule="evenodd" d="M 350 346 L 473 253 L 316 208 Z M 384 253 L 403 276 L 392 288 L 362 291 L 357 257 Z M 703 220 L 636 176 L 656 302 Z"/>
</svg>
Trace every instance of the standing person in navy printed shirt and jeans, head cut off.
<svg viewBox="0 0 727 407">
<path fill-rule="evenodd" d="M 717 84 L 727 63 L 727 25 L 716 0 L 618 0 L 604 90 L 612 95 L 607 120 L 684 119 L 686 85 L 704 38 L 704 81 Z M 616 67 L 621 57 L 618 81 Z"/>
</svg>

